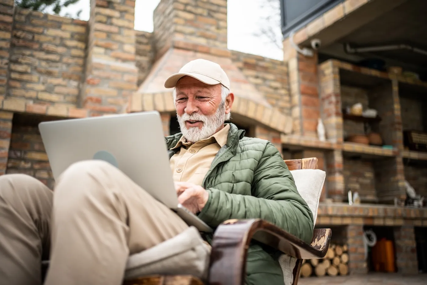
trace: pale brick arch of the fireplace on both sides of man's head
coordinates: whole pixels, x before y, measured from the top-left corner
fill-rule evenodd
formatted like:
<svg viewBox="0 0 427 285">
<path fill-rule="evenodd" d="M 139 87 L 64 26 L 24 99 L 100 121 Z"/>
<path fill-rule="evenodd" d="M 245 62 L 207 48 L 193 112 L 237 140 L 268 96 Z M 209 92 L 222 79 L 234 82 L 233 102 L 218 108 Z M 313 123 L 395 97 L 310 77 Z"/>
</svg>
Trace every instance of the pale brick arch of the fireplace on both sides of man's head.
<svg viewBox="0 0 427 285">
<path fill-rule="evenodd" d="M 129 112 L 152 111 L 174 112 L 172 92 L 146 93 L 136 92 L 132 95 Z M 253 119 L 278 132 L 290 134 L 292 131 L 292 119 L 285 116 L 278 109 L 260 104 L 251 98 L 243 98 L 234 94 L 232 113 L 237 113 L 249 119 Z"/>
</svg>

